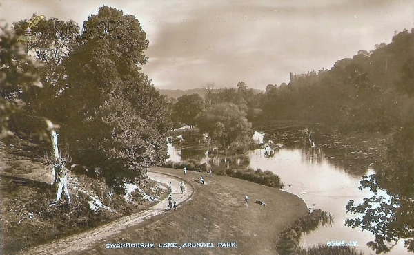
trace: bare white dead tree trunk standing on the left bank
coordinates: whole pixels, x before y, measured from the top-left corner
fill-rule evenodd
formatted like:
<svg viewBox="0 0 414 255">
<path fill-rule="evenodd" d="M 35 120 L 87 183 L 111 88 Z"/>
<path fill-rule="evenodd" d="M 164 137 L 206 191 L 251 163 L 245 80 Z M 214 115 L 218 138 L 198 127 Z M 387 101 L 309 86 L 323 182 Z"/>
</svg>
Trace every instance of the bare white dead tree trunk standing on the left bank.
<svg viewBox="0 0 414 255">
<path fill-rule="evenodd" d="M 53 164 L 53 176 L 55 179 L 55 184 L 58 184 L 56 201 L 59 201 L 61 199 L 62 191 L 64 191 L 66 197 L 70 202 L 70 195 L 68 191 L 68 177 L 65 169 L 66 162 L 61 157 L 61 154 L 59 153 L 59 147 L 57 146 L 58 134 L 56 133 L 55 129 L 52 129 L 50 131 L 50 135 L 52 136 L 53 156 L 55 157 L 55 164 Z"/>
</svg>

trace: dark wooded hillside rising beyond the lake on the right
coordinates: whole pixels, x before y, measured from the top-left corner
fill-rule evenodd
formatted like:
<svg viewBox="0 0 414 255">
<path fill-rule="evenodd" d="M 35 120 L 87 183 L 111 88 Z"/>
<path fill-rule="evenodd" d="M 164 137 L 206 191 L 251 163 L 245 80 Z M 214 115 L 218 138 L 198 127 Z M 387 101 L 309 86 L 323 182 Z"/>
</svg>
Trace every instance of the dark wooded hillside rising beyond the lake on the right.
<svg viewBox="0 0 414 255">
<path fill-rule="evenodd" d="M 342 131 L 390 131 L 410 120 L 414 95 L 414 33 L 335 62 L 331 70 L 268 91 L 263 117 L 339 126 Z"/>
</svg>

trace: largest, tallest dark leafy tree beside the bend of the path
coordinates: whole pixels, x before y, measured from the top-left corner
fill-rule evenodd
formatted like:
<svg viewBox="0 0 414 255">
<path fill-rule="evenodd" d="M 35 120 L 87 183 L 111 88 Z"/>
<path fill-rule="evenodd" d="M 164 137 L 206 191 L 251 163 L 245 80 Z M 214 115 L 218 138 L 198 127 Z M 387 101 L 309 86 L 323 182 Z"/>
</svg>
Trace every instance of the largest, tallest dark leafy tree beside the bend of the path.
<svg viewBox="0 0 414 255">
<path fill-rule="evenodd" d="M 140 73 L 146 64 L 146 34 L 133 15 L 103 6 L 83 26 L 123 21 L 122 38 L 84 39 L 64 60 L 66 89 L 59 96 L 61 134 L 74 162 L 106 179 L 121 192 L 150 166 L 166 160 L 171 127 L 166 97 Z"/>
</svg>

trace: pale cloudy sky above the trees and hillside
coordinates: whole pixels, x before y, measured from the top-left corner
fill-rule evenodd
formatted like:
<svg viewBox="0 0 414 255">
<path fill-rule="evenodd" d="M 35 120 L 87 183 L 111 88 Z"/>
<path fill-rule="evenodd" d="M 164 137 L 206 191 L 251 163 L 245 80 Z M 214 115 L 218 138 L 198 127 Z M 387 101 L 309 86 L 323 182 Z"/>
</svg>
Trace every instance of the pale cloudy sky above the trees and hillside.
<svg viewBox="0 0 414 255">
<path fill-rule="evenodd" d="M 142 71 L 157 88 L 250 88 L 332 68 L 414 28 L 414 0 L 2 0 L 11 25 L 33 13 L 79 24 L 106 5 L 135 15 L 150 41 Z"/>
</svg>

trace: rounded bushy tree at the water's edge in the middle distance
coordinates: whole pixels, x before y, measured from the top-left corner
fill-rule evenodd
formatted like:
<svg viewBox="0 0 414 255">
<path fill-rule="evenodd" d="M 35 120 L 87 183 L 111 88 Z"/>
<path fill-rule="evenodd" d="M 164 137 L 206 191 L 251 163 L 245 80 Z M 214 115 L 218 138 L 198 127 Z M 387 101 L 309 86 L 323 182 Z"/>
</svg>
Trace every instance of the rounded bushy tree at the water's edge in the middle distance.
<svg viewBox="0 0 414 255">
<path fill-rule="evenodd" d="M 196 123 L 201 132 L 227 149 L 233 142 L 251 140 L 251 123 L 245 116 L 235 104 L 222 103 L 204 109 L 197 115 Z"/>
</svg>

